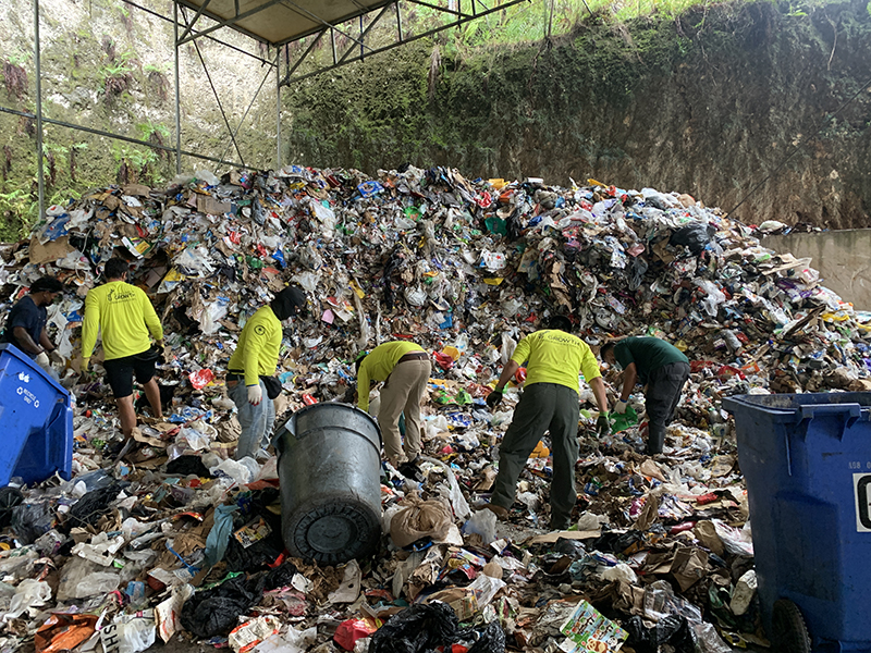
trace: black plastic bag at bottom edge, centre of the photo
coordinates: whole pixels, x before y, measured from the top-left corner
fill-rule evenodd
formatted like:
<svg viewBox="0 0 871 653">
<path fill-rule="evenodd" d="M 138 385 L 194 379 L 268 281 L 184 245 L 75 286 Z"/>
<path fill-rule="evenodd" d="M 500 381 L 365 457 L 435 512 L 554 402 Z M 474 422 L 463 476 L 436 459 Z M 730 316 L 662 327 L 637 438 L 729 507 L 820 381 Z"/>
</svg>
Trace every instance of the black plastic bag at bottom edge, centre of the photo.
<svg viewBox="0 0 871 653">
<path fill-rule="evenodd" d="M 505 651 L 505 633 L 496 623 L 480 632 L 461 630 L 456 614 L 446 603 L 413 605 L 393 615 L 372 634 L 369 653 L 428 653 L 473 641 L 469 653 Z"/>
</svg>

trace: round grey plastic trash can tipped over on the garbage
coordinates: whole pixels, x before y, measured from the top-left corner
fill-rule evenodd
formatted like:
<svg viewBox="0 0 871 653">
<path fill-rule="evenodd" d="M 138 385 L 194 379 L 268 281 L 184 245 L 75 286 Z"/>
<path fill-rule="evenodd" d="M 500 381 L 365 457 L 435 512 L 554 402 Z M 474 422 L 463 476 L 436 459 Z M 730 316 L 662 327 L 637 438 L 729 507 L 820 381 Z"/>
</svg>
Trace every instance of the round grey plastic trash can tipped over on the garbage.
<svg viewBox="0 0 871 653">
<path fill-rule="evenodd" d="M 371 554 L 381 537 L 375 420 L 345 404 L 315 404 L 291 416 L 274 445 L 287 550 L 324 565 Z"/>
</svg>

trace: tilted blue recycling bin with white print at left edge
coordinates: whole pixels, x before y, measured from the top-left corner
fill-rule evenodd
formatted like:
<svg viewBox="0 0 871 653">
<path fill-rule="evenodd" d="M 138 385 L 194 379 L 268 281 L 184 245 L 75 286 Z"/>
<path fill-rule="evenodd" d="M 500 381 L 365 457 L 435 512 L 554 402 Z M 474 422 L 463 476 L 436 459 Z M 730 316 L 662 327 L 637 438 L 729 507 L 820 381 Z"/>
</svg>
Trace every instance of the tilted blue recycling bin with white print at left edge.
<svg viewBox="0 0 871 653">
<path fill-rule="evenodd" d="M 70 393 L 14 345 L 0 345 L 0 486 L 38 483 L 73 465 Z"/>
</svg>

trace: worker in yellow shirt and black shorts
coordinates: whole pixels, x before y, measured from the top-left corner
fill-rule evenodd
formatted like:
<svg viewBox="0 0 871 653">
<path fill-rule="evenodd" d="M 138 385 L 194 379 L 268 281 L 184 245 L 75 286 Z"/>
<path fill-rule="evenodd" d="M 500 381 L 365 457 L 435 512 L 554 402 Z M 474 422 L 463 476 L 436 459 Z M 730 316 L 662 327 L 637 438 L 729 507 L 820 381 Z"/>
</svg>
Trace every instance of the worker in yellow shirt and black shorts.
<svg viewBox="0 0 871 653">
<path fill-rule="evenodd" d="M 128 269 L 124 259 L 112 258 L 106 262 L 106 283 L 88 291 L 82 324 L 82 371 L 88 370 L 99 331 L 105 354 L 102 367 L 115 397 L 124 438 L 130 438 L 136 427 L 134 373 L 151 404 L 154 417 L 163 417 L 160 387 L 155 380 L 155 365 L 163 348 L 163 328 L 148 295 L 125 282 Z M 158 348 L 151 347 L 149 332 Z"/>
</svg>

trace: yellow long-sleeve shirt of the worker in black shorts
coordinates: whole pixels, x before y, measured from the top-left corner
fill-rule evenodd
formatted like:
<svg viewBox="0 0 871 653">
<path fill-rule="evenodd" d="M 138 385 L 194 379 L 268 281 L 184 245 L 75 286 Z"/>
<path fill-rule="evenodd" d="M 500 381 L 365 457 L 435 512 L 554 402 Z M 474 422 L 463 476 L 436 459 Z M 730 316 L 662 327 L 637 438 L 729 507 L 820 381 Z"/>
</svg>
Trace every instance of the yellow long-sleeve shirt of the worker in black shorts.
<svg viewBox="0 0 871 653">
<path fill-rule="evenodd" d="M 106 360 L 142 354 L 155 340 L 163 337 L 163 328 L 148 295 L 142 288 L 110 281 L 88 291 L 85 298 L 85 321 L 82 324 L 82 356 L 90 358 L 102 334 Z"/>
</svg>

